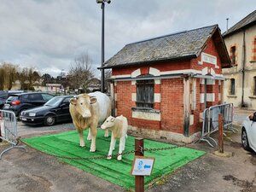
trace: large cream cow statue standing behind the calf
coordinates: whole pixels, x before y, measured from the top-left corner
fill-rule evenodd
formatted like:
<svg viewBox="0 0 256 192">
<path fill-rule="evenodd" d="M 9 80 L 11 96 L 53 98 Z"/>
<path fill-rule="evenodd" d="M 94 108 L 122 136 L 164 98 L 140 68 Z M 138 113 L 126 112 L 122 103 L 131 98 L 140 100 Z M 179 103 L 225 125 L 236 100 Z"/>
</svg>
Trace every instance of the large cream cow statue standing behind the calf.
<svg viewBox="0 0 256 192">
<path fill-rule="evenodd" d="M 80 94 L 70 100 L 69 112 L 73 125 L 79 132 L 80 146 L 85 146 L 83 131 L 90 128 L 88 134 L 88 139 L 91 138 L 90 152 L 95 152 L 97 126 L 111 113 L 110 99 L 99 91 Z M 108 137 L 107 131 L 105 131 L 105 137 Z"/>
</svg>

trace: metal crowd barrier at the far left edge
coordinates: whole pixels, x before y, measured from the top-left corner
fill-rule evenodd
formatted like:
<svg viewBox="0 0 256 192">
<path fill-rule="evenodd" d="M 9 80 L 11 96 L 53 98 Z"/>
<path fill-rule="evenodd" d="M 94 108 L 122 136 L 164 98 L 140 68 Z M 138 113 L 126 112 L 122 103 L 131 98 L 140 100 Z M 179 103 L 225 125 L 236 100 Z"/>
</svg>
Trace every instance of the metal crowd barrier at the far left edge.
<svg viewBox="0 0 256 192">
<path fill-rule="evenodd" d="M 3 154 L 12 148 L 24 148 L 26 150 L 24 146 L 18 146 L 17 121 L 14 112 L 0 110 L 0 131 L 0 139 L 11 145 L 0 154 L 0 160 Z"/>
</svg>

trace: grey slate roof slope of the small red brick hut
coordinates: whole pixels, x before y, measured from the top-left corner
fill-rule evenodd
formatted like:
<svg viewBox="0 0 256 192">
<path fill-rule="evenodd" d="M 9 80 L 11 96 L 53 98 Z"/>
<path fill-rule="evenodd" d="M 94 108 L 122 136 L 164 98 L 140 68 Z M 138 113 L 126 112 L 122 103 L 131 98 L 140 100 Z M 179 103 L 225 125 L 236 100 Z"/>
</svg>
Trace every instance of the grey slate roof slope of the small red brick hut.
<svg viewBox="0 0 256 192">
<path fill-rule="evenodd" d="M 123 49 L 105 62 L 104 67 L 113 68 L 153 61 L 196 57 L 201 53 L 207 39 L 212 36 L 217 28 L 218 25 L 206 26 L 126 44 Z"/>
</svg>

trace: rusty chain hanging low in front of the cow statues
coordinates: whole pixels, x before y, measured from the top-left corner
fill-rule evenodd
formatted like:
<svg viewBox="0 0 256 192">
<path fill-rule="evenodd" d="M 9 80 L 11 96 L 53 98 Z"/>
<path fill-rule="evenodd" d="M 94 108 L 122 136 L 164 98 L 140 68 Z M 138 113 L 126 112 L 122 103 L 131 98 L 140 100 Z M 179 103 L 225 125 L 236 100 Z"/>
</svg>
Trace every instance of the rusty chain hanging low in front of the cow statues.
<svg viewBox="0 0 256 192">
<path fill-rule="evenodd" d="M 20 137 L 17 137 L 17 144 L 18 143 L 24 143 Z M 17 145 L 16 144 L 16 145 Z M 26 144 L 26 143 L 24 143 Z M 119 155 L 125 155 L 125 154 L 133 154 L 135 152 L 140 152 L 140 153 L 144 153 L 145 151 L 151 152 L 151 151 L 160 151 L 160 150 L 168 150 L 168 149 L 173 149 L 173 148 L 182 148 L 185 147 L 187 144 L 183 144 L 183 145 L 175 145 L 172 147 L 166 147 L 166 148 L 143 148 L 141 146 L 139 146 L 139 148 L 137 148 L 136 150 L 131 150 L 131 151 L 126 151 L 122 154 L 113 154 L 111 157 L 118 157 Z M 27 144 L 26 144 L 27 145 Z M 32 146 L 29 146 L 30 148 L 33 148 Z M 47 154 L 49 156 L 55 157 L 55 158 L 60 158 L 60 159 L 65 159 L 65 160 L 102 160 L 102 159 L 107 159 L 109 156 L 108 155 L 104 155 L 104 156 L 97 156 L 97 157 L 67 157 L 67 156 L 61 156 L 61 155 L 57 155 L 57 154 L 48 154 L 44 151 L 40 151 L 37 148 L 33 148 L 37 151 L 39 151 L 42 154 Z"/>
</svg>

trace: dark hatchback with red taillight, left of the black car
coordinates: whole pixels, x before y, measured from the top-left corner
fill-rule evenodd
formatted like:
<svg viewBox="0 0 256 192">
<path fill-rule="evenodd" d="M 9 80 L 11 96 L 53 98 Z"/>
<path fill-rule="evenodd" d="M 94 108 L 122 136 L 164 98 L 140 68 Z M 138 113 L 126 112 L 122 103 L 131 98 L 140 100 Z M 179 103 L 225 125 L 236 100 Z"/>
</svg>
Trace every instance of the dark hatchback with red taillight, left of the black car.
<svg viewBox="0 0 256 192">
<path fill-rule="evenodd" d="M 3 109 L 15 112 L 16 117 L 20 117 L 20 113 L 29 108 L 43 106 L 53 95 L 48 93 L 26 92 L 19 94 L 11 94 L 6 100 Z"/>
</svg>

